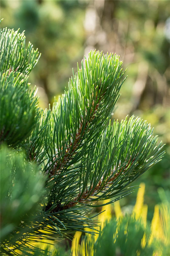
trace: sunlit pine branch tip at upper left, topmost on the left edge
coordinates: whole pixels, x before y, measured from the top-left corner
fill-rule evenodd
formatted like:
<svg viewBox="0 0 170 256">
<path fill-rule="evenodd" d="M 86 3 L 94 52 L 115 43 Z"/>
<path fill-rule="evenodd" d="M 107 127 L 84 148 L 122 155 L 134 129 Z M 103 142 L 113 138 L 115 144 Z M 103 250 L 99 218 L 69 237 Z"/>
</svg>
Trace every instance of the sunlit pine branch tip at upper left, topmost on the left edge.
<svg viewBox="0 0 170 256">
<path fill-rule="evenodd" d="M 0 76 L 6 71 L 20 72 L 28 75 L 37 64 L 40 54 L 29 42 L 26 49 L 24 32 L 21 34 L 13 29 L 0 31 Z"/>
</svg>

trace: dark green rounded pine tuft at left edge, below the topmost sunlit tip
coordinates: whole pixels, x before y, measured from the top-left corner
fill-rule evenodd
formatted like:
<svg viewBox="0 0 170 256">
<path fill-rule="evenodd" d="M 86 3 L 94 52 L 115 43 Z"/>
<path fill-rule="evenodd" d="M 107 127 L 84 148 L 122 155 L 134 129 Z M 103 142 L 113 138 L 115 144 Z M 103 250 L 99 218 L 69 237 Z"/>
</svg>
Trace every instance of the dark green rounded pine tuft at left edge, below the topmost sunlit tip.
<svg viewBox="0 0 170 256">
<path fill-rule="evenodd" d="M 35 89 L 22 73 L 4 73 L 0 79 L 0 144 L 16 146 L 28 137 L 38 120 Z"/>
</svg>

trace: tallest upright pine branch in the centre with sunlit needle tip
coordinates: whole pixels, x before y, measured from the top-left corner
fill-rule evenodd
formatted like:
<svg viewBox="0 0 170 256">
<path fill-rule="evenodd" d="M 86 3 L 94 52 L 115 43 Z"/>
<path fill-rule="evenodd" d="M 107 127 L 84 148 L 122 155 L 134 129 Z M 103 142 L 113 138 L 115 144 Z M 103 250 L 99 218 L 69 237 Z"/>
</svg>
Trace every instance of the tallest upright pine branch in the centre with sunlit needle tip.
<svg viewBox="0 0 170 256">
<path fill-rule="evenodd" d="M 77 154 L 75 151 L 82 148 L 84 141 L 87 144 L 106 127 L 122 86 L 121 65 L 118 56 L 91 52 L 85 65 L 82 62 L 82 69 L 78 68 L 78 74 L 73 73 L 68 91 L 52 109 L 52 147 L 57 147 L 53 162 L 58 159 L 49 171 L 50 177 L 70 166 L 73 155 Z M 80 152 L 77 158 L 81 158 Z"/>
</svg>

